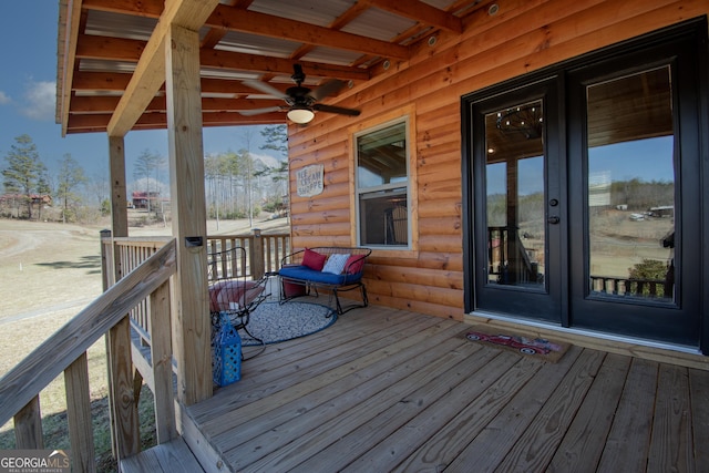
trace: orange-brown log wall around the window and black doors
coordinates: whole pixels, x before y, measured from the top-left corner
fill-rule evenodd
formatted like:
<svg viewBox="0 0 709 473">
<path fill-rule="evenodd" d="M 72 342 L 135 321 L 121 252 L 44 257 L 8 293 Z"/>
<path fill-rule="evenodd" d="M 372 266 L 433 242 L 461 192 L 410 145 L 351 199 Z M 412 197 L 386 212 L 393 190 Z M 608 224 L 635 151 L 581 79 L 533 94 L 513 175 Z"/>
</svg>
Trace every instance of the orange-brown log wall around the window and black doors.
<svg viewBox="0 0 709 473">
<path fill-rule="evenodd" d="M 465 19 L 464 32 L 427 37 L 409 61 L 391 61 L 338 105 L 359 117 L 318 114 L 289 127 L 292 245 L 357 243 L 352 134 L 410 114 L 412 250 L 374 250 L 366 273 L 374 304 L 463 319 L 461 96 L 684 20 L 706 16 L 696 1 L 501 0 Z M 433 43 L 430 45 L 430 43 Z M 325 189 L 298 197 L 295 173 L 325 165 Z"/>
</svg>

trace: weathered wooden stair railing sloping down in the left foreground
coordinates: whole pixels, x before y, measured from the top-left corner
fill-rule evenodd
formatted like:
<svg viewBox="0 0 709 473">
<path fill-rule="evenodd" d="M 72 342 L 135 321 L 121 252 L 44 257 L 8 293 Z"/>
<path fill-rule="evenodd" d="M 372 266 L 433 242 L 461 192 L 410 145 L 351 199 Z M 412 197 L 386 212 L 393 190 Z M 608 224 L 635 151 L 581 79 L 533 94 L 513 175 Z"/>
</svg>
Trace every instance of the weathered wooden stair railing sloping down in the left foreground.
<svg viewBox="0 0 709 473">
<path fill-rule="evenodd" d="M 171 308 L 160 304 L 171 300 L 175 254 L 175 241 L 165 243 L 0 379 L 0 424 L 14 418 L 17 449 L 43 448 L 39 395 L 63 372 L 72 469 L 95 471 L 86 350 L 105 335 L 114 453 L 123 459 L 140 451 L 126 315 L 148 298 L 155 302 L 147 323 L 152 328 L 151 354 L 160 360 L 152 367 L 157 442 L 175 436 Z M 112 257 L 104 251 L 102 256 L 105 275 L 113 266 Z"/>
</svg>

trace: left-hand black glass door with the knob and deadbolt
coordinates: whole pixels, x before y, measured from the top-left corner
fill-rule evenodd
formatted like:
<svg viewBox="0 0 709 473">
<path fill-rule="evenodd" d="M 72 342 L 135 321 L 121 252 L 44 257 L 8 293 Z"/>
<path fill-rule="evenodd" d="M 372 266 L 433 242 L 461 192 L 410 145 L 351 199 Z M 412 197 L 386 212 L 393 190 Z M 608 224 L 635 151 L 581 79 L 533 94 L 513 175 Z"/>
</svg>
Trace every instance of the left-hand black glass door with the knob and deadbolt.
<svg viewBox="0 0 709 473">
<path fill-rule="evenodd" d="M 557 80 L 482 100 L 473 114 L 479 307 L 558 322 L 565 199 Z"/>
</svg>

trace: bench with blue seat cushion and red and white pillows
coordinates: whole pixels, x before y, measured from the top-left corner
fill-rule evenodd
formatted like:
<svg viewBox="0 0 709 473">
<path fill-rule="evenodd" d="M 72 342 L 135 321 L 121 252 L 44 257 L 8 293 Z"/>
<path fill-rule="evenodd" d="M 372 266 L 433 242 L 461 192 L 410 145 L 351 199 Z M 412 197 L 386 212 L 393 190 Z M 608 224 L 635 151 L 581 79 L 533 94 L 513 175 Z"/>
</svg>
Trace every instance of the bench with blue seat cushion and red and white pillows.
<svg viewBox="0 0 709 473">
<path fill-rule="evenodd" d="M 362 247 L 318 246 L 306 248 L 285 256 L 280 261 L 280 300 L 285 302 L 294 297 L 309 295 L 318 288 L 330 290 L 335 297 L 337 313 L 367 307 L 367 288 L 362 282 L 364 263 L 372 250 Z M 339 292 L 359 289 L 362 304 L 342 309 Z"/>
</svg>

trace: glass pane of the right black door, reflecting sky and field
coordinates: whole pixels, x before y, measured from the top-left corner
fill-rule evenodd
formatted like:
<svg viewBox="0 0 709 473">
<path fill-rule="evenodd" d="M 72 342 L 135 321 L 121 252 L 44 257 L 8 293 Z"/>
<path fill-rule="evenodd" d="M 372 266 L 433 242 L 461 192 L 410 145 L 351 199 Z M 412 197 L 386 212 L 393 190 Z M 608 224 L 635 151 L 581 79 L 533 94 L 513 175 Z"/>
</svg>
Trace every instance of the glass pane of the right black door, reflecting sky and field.
<svg viewBox="0 0 709 473">
<path fill-rule="evenodd" d="M 674 300 L 669 66 L 587 88 L 590 294 Z"/>
</svg>

